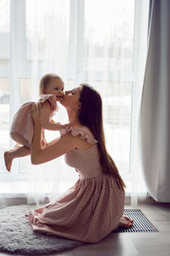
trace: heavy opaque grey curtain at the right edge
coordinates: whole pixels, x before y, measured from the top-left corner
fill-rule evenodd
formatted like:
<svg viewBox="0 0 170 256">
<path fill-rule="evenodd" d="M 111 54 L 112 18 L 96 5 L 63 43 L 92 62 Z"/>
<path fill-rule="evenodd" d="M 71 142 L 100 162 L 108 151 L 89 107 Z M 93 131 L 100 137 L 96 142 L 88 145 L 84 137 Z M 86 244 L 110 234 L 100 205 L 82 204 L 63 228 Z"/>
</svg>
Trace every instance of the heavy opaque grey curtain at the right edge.
<svg viewBox="0 0 170 256">
<path fill-rule="evenodd" d="M 152 1 L 141 107 L 144 179 L 156 201 L 170 201 L 170 1 Z"/>
</svg>

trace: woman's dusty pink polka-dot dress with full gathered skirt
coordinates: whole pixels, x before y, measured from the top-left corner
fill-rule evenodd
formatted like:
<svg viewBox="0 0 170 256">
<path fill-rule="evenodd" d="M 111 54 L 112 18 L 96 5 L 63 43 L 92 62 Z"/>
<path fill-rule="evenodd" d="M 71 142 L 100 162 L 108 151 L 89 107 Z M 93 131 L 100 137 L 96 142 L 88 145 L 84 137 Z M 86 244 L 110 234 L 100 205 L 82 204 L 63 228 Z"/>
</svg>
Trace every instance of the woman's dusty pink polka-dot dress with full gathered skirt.
<svg viewBox="0 0 170 256">
<path fill-rule="evenodd" d="M 93 147 L 73 149 L 65 161 L 79 173 L 77 183 L 56 201 L 28 214 L 34 231 L 96 243 L 117 228 L 124 209 L 124 191 L 102 172 L 97 141 L 88 128 L 71 128 L 73 136 Z"/>
</svg>

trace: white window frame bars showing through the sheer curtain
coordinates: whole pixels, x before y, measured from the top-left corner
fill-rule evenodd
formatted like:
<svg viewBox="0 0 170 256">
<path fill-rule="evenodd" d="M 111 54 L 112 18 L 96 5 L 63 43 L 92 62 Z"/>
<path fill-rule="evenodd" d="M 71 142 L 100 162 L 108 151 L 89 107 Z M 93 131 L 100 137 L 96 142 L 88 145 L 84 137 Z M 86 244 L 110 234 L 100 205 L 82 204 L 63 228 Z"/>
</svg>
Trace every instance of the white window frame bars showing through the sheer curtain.
<svg viewBox="0 0 170 256">
<path fill-rule="evenodd" d="M 134 3 L 134 35 L 133 35 L 133 71 L 127 73 L 120 79 L 118 74 L 114 79 L 109 74 L 112 82 L 130 82 L 135 84 L 135 63 L 138 58 L 138 31 L 139 31 L 139 4 Z M 69 35 L 69 62 L 66 70 L 67 79 L 75 79 L 80 84 L 81 78 L 88 78 L 87 73 L 82 73 L 83 67 L 83 30 L 84 30 L 84 0 L 70 0 L 70 35 Z M 76 40 L 76 44 L 75 44 Z M 0 69 L 0 78 L 10 80 L 10 124 L 14 113 L 20 107 L 20 79 L 31 79 L 31 61 L 26 61 L 26 0 L 10 0 L 10 68 Z M 40 61 L 41 63 L 41 61 Z M 97 80 L 102 80 L 102 74 L 98 73 Z M 131 128 L 130 128 L 131 129 Z M 131 134 L 132 136 L 132 134 Z M 14 143 L 10 141 L 10 147 Z M 129 155 L 130 159 L 130 155 Z M 130 161 L 129 161 L 130 162 Z M 8 172 L 0 173 L 3 182 L 9 182 Z M 26 182 L 27 173 L 20 172 L 20 160 L 14 161 L 14 171 L 10 173 L 11 182 Z M 130 180 L 130 172 L 122 173 L 122 178 Z"/>
</svg>

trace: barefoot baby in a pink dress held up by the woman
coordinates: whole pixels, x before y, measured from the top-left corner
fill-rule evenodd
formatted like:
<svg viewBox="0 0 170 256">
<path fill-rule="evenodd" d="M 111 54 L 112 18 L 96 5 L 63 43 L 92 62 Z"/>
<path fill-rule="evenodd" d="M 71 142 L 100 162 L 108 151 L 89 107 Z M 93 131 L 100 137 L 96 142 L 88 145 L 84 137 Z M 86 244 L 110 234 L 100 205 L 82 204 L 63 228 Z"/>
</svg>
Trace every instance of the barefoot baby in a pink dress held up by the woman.
<svg viewBox="0 0 170 256">
<path fill-rule="evenodd" d="M 70 124 L 60 125 L 55 123 L 52 117 L 58 110 L 57 102 L 64 96 L 64 83 L 62 79 L 54 74 L 48 73 L 42 77 L 39 84 L 41 98 L 41 124 L 43 129 L 59 131 Z M 31 118 L 31 106 L 34 102 L 26 102 L 14 115 L 10 129 L 10 137 L 17 143 L 13 149 L 4 153 L 5 166 L 10 172 L 14 158 L 30 154 L 31 142 L 34 135 L 34 123 Z M 42 148 L 46 145 L 44 131 L 42 129 Z"/>
</svg>

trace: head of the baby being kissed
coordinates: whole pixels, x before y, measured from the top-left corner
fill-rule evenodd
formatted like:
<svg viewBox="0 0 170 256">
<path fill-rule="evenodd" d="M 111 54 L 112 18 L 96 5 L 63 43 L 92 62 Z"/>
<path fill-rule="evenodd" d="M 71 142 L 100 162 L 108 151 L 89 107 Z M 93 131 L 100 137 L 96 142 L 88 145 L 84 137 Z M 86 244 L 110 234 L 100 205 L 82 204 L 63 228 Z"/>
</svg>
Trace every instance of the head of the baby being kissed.
<svg viewBox="0 0 170 256">
<path fill-rule="evenodd" d="M 39 84 L 39 94 L 54 94 L 56 101 L 64 95 L 64 83 L 55 73 L 48 73 L 42 77 Z"/>
</svg>

